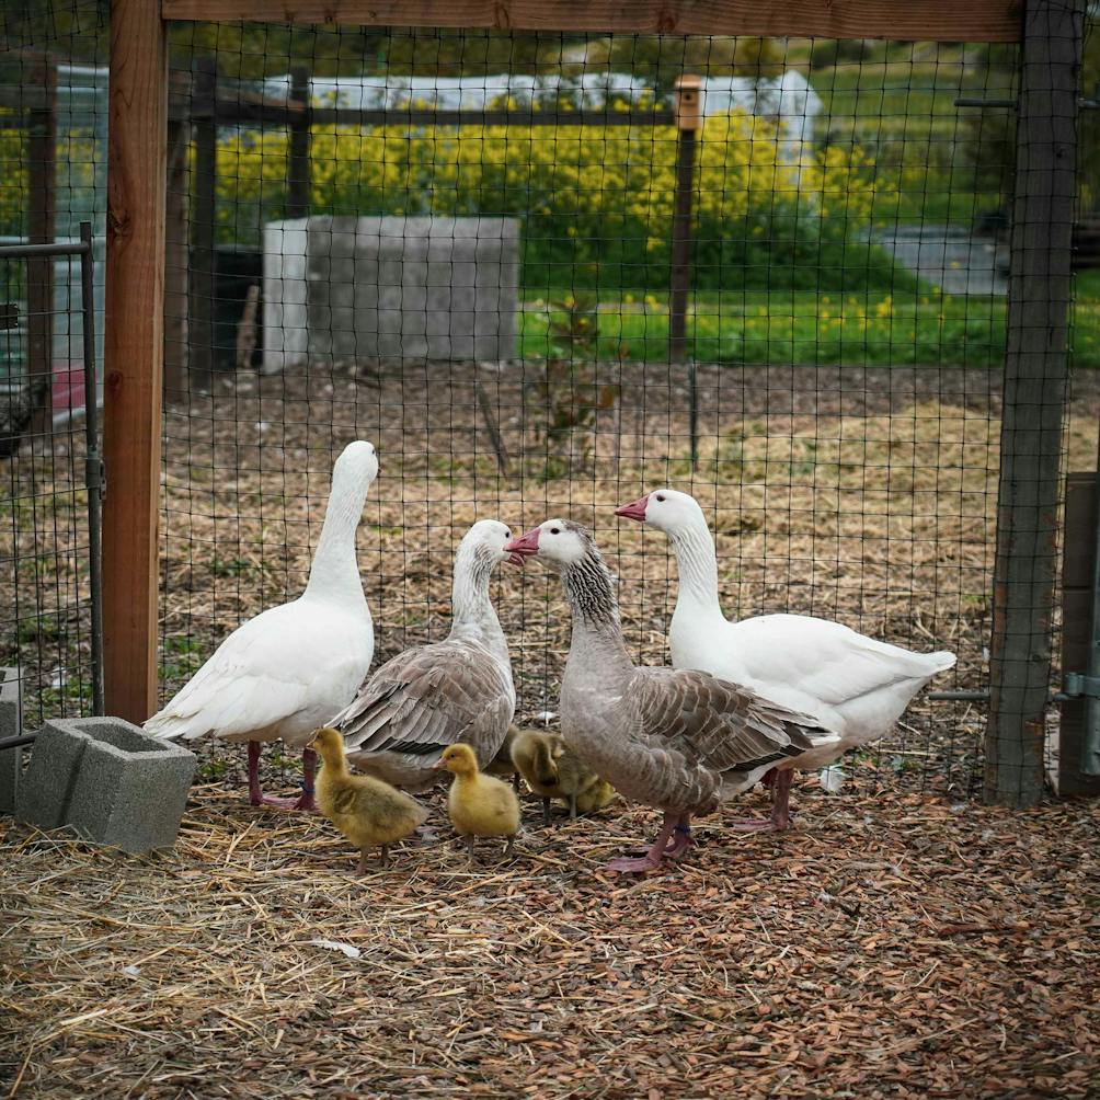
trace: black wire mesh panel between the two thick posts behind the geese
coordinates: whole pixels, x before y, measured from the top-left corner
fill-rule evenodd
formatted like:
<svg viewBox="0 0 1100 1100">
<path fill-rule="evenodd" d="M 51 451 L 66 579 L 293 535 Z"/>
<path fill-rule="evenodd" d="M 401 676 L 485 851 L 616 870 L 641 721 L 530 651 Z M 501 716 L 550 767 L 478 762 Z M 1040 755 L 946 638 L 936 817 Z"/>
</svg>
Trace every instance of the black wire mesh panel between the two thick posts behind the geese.
<svg viewBox="0 0 1100 1100">
<path fill-rule="evenodd" d="M 446 632 L 475 518 L 566 515 L 609 553 L 635 654 L 666 661 L 674 563 L 613 509 L 672 485 L 715 532 L 728 617 L 957 653 L 933 686 L 975 697 L 919 700 L 859 770 L 972 793 L 1019 65 L 977 44 L 175 26 L 162 696 L 301 591 L 332 461 L 369 438 L 377 660 Z M 1079 310 L 1065 448 L 1089 469 L 1094 343 Z M 539 719 L 568 613 L 532 569 L 495 598 Z"/>
</svg>

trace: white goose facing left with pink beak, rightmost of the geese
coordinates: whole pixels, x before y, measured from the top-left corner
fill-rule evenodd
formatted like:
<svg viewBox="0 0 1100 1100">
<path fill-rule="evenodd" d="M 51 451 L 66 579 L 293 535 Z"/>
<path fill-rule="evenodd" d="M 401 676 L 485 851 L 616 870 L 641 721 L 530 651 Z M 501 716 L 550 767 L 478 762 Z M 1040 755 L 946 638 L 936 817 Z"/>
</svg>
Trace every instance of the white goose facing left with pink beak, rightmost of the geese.
<svg viewBox="0 0 1100 1100">
<path fill-rule="evenodd" d="M 784 760 L 774 780 L 769 821 L 745 829 L 787 828 L 791 773 L 817 769 L 877 740 L 937 672 L 955 663 L 942 650 L 914 653 L 849 627 L 810 615 L 759 615 L 730 623 L 718 603 L 718 561 L 703 509 L 694 497 L 659 488 L 615 509 L 664 531 L 680 573 L 669 648 L 678 669 L 701 669 L 745 684 L 839 735 L 840 743 Z"/>
</svg>

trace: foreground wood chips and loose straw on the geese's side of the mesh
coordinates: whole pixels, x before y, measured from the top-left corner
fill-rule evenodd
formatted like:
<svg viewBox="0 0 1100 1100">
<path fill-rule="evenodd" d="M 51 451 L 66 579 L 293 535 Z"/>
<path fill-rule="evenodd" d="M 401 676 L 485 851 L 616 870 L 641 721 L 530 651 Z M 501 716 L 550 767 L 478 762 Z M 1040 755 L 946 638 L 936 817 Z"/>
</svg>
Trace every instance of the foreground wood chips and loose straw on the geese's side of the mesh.
<svg viewBox="0 0 1100 1100">
<path fill-rule="evenodd" d="M 363 879 L 217 784 L 163 855 L 4 820 L 0 1096 L 1097 1094 L 1100 804 L 795 801 L 640 880 L 622 802 L 471 870 L 436 795 Z"/>
</svg>

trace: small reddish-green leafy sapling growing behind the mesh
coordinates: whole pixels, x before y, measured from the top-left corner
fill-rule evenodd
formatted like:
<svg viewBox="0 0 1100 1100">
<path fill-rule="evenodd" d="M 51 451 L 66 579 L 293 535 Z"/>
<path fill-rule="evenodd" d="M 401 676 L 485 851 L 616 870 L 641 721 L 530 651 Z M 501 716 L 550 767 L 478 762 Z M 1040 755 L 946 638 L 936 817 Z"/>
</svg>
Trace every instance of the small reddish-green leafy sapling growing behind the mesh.
<svg viewBox="0 0 1100 1100">
<path fill-rule="evenodd" d="M 544 454 L 542 481 L 586 470 L 595 450 L 596 419 L 618 400 L 618 386 L 596 377 L 600 344 L 597 300 L 571 294 L 552 304 L 547 329 L 547 360 L 536 383 L 542 418 L 537 449 Z M 625 358 L 626 349 L 619 349 Z"/>
</svg>

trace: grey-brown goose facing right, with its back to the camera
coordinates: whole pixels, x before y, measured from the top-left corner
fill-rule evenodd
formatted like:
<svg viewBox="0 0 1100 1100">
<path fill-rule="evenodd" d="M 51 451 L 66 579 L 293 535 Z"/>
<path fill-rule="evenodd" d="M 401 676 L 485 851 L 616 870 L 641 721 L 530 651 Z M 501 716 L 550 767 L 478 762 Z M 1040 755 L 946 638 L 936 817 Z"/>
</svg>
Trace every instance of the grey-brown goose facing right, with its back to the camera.
<svg viewBox="0 0 1100 1100">
<path fill-rule="evenodd" d="M 488 583 L 498 562 L 522 563 L 504 549 L 510 538 L 495 519 L 466 531 L 454 556 L 451 632 L 387 661 L 330 723 L 362 771 L 422 791 L 439 780 L 435 765 L 449 745 L 471 746 L 484 768 L 504 744 L 516 690 Z"/>
</svg>

